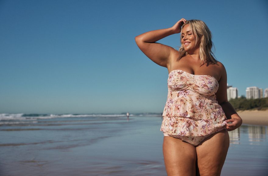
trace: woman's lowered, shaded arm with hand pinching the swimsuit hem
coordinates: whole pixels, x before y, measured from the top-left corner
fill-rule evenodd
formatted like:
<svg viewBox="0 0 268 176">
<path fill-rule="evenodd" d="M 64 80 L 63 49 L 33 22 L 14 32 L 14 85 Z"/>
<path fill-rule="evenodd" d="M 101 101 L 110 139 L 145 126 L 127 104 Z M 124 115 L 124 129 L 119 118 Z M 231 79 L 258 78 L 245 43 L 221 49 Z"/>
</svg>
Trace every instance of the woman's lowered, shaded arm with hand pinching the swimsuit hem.
<svg viewBox="0 0 268 176">
<path fill-rule="evenodd" d="M 240 127 L 242 124 L 242 119 L 234 110 L 234 107 L 231 103 L 228 102 L 227 99 L 227 73 L 224 65 L 220 63 L 221 67 L 221 77 L 219 80 L 219 88 L 216 93 L 216 100 L 218 101 L 219 105 L 222 107 L 226 117 L 228 120 L 226 122 L 231 122 L 231 124 L 226 124 L 226 129 L 228 131 L 235 130 L 236 128 Z"/>
</svg>

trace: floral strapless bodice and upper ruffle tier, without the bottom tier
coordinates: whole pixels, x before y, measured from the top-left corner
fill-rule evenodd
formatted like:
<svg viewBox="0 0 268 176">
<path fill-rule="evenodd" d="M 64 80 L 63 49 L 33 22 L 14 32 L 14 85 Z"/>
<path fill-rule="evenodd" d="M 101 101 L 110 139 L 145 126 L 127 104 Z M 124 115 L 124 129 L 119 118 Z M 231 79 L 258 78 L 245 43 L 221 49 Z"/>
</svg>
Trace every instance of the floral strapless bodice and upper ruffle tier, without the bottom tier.
<svg viewBox="0 0 268 176">
<path fill-rule="evenodd" d="M 215 119 L 225 116 L 216 100 L 217 79 L 209 75 L 193 75 L 182 70 L 168 74 L 168 98 L 163 116 Z"/>
</svg>

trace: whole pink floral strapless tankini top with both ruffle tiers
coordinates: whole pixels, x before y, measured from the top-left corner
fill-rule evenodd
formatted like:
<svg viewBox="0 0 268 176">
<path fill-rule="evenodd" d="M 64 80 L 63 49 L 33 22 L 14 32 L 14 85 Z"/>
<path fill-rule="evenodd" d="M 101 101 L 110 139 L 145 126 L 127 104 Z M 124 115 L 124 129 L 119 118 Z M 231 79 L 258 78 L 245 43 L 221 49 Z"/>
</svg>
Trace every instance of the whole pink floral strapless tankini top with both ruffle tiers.
<svg viewBox="0 0 268 176">
<path fill-rule="evenodd" d="M 218 86 L 213 76 L 171 71 L 160 131 L 171 135 L 204 136 L 224 129 L 227 118 L 216 100 Z"/>
</svg>

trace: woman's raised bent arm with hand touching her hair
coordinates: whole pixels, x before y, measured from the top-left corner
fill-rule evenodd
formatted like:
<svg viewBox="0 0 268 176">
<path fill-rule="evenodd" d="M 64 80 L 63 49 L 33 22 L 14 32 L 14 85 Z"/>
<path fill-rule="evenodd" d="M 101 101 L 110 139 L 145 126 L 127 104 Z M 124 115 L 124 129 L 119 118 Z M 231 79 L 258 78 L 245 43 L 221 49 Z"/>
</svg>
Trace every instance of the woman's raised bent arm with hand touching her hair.
<svg viewBox="0 0 268 176">
<path fill-rule="evenodd" d="M 135 41 L 139 49 L 154 63 L 168 67 L 170 58 L 177 54 L 178 51 L 170 46 L 157 43 L 156 41 L 163 39 L 166 36 L 180 33 L 185 19 L 179 20 L 174 26 L 167 29 L 158 29 L 145 32 L 135 37 Z"/>
</svg>

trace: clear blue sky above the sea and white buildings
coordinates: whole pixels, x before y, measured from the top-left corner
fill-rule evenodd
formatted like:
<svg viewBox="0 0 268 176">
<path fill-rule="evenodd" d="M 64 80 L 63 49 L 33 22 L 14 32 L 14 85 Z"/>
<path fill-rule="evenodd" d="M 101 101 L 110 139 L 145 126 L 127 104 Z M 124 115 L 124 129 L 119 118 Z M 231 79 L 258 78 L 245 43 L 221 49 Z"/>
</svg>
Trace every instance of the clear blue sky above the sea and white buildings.
<svg viewBox="0 0 268 176">
<path fill-rule="evenodd" d="M 0 1 L 0 113 L 163 112 L 168 69 L 135 36 L 203 20 L 227 82 L 268 87 L 268 2 Z M 179 34 L 158 42 L 175 49 Z"/>
</svg>

